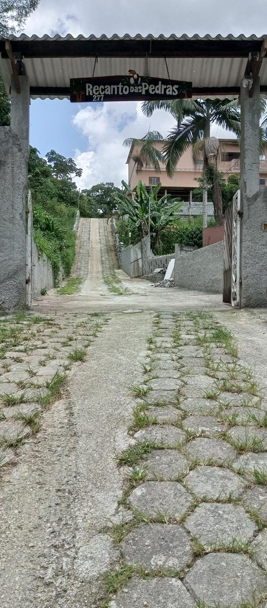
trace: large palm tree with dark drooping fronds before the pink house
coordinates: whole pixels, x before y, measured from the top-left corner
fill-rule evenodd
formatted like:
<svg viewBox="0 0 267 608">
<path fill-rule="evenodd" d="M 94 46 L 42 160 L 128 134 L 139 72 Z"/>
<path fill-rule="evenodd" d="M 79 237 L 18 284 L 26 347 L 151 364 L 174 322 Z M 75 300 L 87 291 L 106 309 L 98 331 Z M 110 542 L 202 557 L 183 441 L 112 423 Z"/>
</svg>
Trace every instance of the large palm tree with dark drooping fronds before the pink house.
<svg viewBox="0 0 267 608">
<path fill-rule="evenodd" d="M 142 106 L 146 116 L 152 116 L 155 109 L 164 109 L 174 116 L 177 126 L 168 134 L 163 147 L 163 159 L 167 175 L 172 177 L 182 154 L 192 145 L 194 162 L 203 159 L 203 228 L 207 226 L 208 182 L 208 140 L 211 137 L 211 125 L 217 123 L 240 137 L 240 106 L 238 101 L 220 100 L 164 100 L 161 102 L 144 102 Z M 221 154 L 217 149 L 216 157 Z"/>
</svg>

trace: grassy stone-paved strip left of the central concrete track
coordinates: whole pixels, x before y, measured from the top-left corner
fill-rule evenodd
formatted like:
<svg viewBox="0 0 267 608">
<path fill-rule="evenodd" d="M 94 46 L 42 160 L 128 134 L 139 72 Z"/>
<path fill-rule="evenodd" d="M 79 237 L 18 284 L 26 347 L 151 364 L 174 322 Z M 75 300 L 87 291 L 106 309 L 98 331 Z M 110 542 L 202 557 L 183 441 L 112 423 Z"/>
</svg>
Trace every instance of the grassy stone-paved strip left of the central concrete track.
<svg viewBox="0 0 267 608">
<path fill-rule="evenodd" d="M 59 398 L 68 371 L 107 319 L 101 315 L 21 313 L 0 319 L 0 471 L 41 427 L 41 413 Z"/>
</svg>

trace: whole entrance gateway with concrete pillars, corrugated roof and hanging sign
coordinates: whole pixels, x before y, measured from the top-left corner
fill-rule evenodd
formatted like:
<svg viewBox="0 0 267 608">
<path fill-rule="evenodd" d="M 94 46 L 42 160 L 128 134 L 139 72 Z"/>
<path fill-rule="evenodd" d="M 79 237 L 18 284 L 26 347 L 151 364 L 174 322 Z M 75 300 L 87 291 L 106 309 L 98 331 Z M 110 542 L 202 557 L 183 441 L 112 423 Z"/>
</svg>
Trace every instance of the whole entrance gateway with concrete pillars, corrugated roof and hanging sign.
<svg viewBox="0 0 267 608">
<path fill-rule="evenodd" d="M 0 72 L 12 100 L 0 127 L 0 310 L 29 301 L 26 250 L 30 98 L 72 102 L 240 98 L 238 306 L 267 305 L 267 190 L 259 187 L 260 95 L 267 97 L 267 35 L 56 35 L 0 38 Z M 166 88 L 165 88 L 166 87 Z M 28 277 L 25 277 L 27 264 Z"/>
</svg>

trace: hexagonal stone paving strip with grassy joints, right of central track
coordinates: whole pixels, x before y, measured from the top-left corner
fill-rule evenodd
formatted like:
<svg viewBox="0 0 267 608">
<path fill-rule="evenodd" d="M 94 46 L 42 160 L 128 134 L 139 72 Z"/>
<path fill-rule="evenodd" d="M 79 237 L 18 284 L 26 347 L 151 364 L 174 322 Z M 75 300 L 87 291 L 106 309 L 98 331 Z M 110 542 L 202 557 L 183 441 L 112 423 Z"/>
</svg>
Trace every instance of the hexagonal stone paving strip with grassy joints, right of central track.
<svg viewBox="0 0 267 608">
<path fill-rule="evenodd" d="M 157 314 L 142 369 L 100 606 L 265 606 L 265 393 L 203 311 Z"/>
</svg>

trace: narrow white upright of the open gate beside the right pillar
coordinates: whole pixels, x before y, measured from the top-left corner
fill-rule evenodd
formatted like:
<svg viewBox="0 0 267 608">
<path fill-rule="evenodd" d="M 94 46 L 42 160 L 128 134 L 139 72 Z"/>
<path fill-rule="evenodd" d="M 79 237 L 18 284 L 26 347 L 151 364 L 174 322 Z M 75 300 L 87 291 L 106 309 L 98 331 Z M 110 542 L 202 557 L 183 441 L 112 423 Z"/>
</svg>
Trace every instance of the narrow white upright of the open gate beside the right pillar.
<svg viewBox="0 0 267 608">
<path fill-rule="evenodd" d="M 240 307 L 240 190 L 232 207 L 232 306 Z"/>
</svg>

